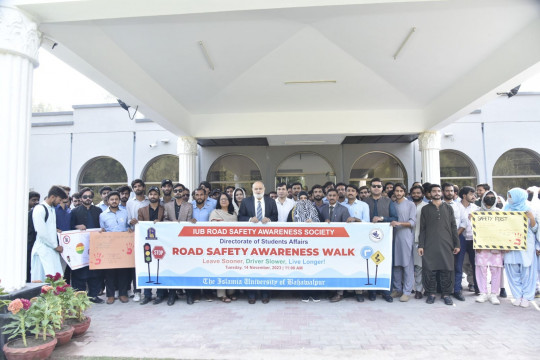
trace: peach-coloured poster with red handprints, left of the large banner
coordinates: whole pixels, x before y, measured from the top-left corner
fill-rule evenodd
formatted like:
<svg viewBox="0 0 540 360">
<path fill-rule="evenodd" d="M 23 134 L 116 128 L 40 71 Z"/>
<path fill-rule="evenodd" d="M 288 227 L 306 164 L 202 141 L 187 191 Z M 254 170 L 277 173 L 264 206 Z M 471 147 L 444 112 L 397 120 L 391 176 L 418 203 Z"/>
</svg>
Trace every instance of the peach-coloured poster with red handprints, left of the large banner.
<svg viewBox="0 0 540 360">
<path fill-rule="evenodd" d="M 90 233 L 90 270 L 135 267 L 133 233 Z"/>
</svg>

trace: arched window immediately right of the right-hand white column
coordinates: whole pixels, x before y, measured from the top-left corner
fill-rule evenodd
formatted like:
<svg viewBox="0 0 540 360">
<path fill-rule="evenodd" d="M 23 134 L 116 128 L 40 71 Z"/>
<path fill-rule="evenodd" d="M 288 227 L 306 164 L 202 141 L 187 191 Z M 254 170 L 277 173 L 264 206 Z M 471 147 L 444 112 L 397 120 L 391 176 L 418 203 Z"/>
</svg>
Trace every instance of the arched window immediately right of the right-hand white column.
<svg viewBox="0 0 540 360">
<path fill-rule="evenodd" d="M 476 169 L 472 161 L 464 154 L 454 150 L 443 150 L 439 153 L 441 164 L 441 184 L 445 182 L 459 186 L 475 187 L 477 184 Z"/>
</svg>

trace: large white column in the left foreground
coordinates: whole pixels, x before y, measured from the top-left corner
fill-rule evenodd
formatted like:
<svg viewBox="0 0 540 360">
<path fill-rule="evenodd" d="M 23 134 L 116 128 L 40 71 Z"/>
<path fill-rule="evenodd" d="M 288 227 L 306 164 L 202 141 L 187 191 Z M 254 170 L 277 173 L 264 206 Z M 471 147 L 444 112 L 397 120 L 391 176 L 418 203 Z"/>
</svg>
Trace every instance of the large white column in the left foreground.
<svg viewBox="0 0 540 360">
<path fill-rule="evenodd" d="M 18 9 L 0 5 L 0 279 L 8 291 L 26 284 L 28 144 L 40 43 L 36 23 Z"/>
</svg>

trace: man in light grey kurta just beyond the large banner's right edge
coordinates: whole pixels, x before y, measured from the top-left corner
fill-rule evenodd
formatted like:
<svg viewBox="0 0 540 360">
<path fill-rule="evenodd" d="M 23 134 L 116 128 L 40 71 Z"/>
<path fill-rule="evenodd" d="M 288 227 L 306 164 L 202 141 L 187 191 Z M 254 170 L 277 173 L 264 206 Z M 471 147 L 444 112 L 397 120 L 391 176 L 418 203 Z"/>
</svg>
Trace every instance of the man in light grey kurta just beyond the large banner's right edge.
<svg viewBox="0 0 540 360">
<path fill-rule="evenodd" d="M 409 301 L 414 285 L 414 225 L 416 223 L 416 206 L 405 198 L 407 188 L 402 183 L 394 185 L 396 196 L 395 208 L 397 221 L 390 225 L 394 227 L 394 291 L 392 297 L 399 301 Z"/>
</svg>

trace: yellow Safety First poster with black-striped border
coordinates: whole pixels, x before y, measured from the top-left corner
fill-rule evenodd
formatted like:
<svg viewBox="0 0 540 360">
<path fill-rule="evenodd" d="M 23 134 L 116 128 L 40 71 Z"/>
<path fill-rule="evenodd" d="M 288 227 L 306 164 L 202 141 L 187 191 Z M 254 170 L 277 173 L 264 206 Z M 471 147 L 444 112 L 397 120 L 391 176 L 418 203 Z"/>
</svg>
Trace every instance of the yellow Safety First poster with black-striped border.
<svg viewBox="0 0 540 360">
<path fill-rule="evenodd" d="M 528 218 L 523 211 L 473 211 L 475 249 L 526 250 Z"/>
</svg>

